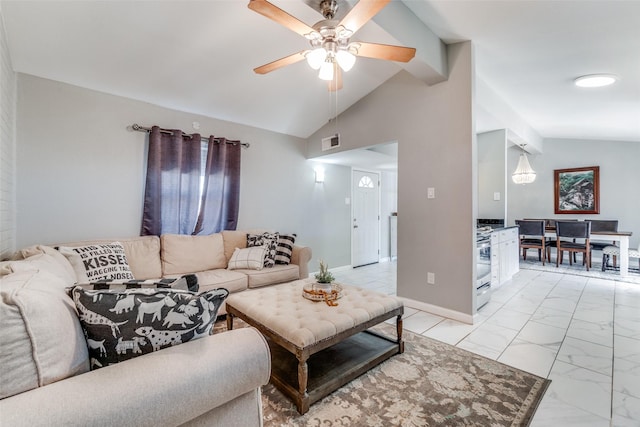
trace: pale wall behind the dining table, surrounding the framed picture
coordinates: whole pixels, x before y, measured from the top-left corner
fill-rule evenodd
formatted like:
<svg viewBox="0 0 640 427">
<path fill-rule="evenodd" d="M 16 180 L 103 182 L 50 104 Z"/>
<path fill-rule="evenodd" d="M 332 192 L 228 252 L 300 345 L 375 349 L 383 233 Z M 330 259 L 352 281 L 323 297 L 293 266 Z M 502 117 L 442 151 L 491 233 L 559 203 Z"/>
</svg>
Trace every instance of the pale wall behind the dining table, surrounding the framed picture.
<svg viewBox="0 0 640 427">
<path fill-rule="evenodd" d="M 507 150 L 507 171 L 515 170 L 520 148 Z M 508 180 L 508 223 L 521 218 L 617 219 L 618 229 L 631 231 L 631 246 L 640 242 L 640 141 L 545 139 L 544 154 L 529 155 L 536 180 L 516 185 Z M 554 169 L 600 167 L 600 214 L 556 215 Z"/>
</svg>

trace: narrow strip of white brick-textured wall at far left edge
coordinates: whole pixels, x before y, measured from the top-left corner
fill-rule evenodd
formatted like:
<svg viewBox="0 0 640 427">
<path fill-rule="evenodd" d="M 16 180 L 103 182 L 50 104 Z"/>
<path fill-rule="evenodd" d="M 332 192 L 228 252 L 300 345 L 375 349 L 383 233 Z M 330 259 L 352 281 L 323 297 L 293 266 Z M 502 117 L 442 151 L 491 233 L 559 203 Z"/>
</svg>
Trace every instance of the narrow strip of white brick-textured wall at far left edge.
<svg viewBox="0 0 640 427">
<path fill-rule="evenodd" d="M 16 80 L 0 12 L 0 259 L 16 249 Z"/>
</svg>

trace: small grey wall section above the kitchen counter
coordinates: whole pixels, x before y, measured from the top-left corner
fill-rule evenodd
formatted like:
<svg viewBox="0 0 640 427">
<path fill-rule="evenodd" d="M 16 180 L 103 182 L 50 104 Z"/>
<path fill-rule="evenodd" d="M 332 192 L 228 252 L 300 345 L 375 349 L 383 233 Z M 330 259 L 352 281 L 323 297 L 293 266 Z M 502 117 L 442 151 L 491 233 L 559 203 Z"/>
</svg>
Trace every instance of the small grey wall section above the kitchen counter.
<svg viewBox="0 0 640 427">
<path fill-rule="evenodd" d="M 477 138 L 478 218 L 506 219 L 507 131 L 484 132 Z"/>
</svg>

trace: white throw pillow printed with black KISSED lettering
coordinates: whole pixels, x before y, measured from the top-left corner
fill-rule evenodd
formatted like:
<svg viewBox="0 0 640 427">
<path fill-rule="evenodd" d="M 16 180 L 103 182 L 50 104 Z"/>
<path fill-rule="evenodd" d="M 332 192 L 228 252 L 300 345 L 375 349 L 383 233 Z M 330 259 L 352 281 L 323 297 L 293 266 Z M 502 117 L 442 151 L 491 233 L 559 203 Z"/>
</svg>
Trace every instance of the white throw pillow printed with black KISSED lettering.
<svg viewBox="0 0 640 427">
<path fill-rule="evenodd" d="M 58 250 L 73 266 L 78 283 L 135 279 L 120 242 L 78 247 L 60 246 Z"/>
</svg>

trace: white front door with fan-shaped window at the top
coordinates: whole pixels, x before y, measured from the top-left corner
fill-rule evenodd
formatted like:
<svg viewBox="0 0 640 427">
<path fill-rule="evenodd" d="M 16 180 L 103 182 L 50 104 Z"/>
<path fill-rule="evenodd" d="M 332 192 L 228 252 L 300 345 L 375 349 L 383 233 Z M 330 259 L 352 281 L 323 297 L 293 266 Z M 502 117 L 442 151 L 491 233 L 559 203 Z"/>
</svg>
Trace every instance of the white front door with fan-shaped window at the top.
<svg viewBox="0 0 640 427">
<path fill-rule="evenodd" d="M 378 262 L 380 256 L 380 175 L 352 171 L 353 224 L 351 265 Z"/>
</svg>

